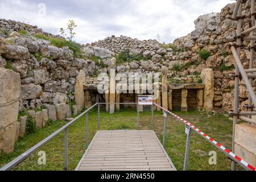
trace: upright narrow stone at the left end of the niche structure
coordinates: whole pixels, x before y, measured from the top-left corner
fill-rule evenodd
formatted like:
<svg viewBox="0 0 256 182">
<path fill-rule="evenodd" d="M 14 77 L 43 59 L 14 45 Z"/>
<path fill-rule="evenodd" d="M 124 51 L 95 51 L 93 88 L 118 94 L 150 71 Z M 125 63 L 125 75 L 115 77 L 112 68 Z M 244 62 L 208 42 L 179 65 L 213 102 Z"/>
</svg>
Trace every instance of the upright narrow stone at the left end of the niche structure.
<svg viewBox="0 0 256 182">
<path fill-rule="evenodd" d="M 81 111 L 84 107 L 84 82 L 85 73 L 84 71 L 80 70 L 79 75 L 76 77 L 75 85 L 75 101 L 79 111 Z"/>
</svg>

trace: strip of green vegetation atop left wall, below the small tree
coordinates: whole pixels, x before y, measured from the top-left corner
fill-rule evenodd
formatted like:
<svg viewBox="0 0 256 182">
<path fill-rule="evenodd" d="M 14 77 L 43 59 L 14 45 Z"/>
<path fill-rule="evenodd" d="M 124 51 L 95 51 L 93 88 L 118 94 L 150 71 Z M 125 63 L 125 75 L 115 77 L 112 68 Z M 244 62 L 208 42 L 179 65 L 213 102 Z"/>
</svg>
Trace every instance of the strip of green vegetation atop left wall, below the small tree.
<svg viewBox="0 0 256 182">
<path fill-rule="evenodd" d="M 50 36 L 46 36 L 43 34 L 35 34 L 35 38 L 48 40 L 51 43 L 51 46 L 56 46 L 59 48 L 68 46 L 68 48 L 71 49 L 71 51 L 73 51 L 73 56 L 75 58 L 84 59 L 84 53 L 82 52 L 82 47 L 79 43 L 72 42 L 66 39 L 51 38 Z"/>
</svg>

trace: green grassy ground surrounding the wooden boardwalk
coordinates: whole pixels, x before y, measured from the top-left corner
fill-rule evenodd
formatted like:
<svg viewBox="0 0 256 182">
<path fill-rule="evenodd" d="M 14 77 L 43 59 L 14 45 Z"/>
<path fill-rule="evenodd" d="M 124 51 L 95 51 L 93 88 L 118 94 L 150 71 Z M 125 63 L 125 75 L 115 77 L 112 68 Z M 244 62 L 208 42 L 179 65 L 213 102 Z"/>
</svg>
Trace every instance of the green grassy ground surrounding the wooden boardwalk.
<svg viewBox="0 0 256 182">
<path fill-rule="evenodd" d="M 189 111 L 188 113 L 175 112 L 180 117 L 192 122 L 199 127 L 209 137 L 213 137 L 225 147 L 231 148 L 232 144 L 232 122 L 224 115 L 213 115 L 202 113 L 200 111 Z M 155 132 L 160 141 L 163 140 L 163 113 L 155 112 Z M 186 135 L 185 127 L 176 119 L 168 116 L 167 125 L 167 144 L 166 151 L 170 156 L 177 170 L 183 169 L 183 160 L 185 154 Z M 34 146 L 42 139 L 65 125 L 64 121 L 53 122 L 51 125 L 35 134 L 28 135 L 18 140 L 15 150 L 9 155 L 0 157 L 0 167 L 10 162 L 16 156 L 22 154 L 28 148 Z M 122 130 L 137 129 L 137 112 L 133 110 L 119 111 L 115 114 L 108 114 L 101 111 L 101 130 Z M 151 113 L 140 114 L 140 129 L 150 130 Z M 97 111 L 89 113 L 89 140 L 92 140 L 97 131 Z M 69 170 L 76 168 L 85 151 L 85 117 L 82 117 L 68 129 L 69 144 Z M 46 165 L 38 164 L 38 152 L 45 151 L 47 155 Z M 23 163 L 15 167 L 15 170 L 63 170 L 64 169 L 64 133 L 57 135 L 54 139 L 34 152 Z M 210 151 L 217 152 L 217 165 L 210 165 L 208 156 Z M 205 139 L 192 132 L 191 148 L 189 155 L 189 170 L 230 170 L 230 160 L 222 154 L 217 148 L 213 147 Z M 240 168 L 241 169 L 241 168 Z"/>
</svg>

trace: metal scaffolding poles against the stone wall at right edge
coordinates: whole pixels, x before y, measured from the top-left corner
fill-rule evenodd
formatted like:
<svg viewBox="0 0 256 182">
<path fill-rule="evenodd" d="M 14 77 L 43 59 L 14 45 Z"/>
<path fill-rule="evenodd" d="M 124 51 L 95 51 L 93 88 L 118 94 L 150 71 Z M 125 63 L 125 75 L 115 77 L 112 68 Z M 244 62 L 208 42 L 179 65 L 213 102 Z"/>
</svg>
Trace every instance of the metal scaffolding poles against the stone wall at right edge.
<svg viewBox="0 0 256 182">
<path fill-rule="evenodd" d="M 247 6 L 245 6 L 245 4 Z M 250 5 L 250 6 L 249 6 Z M 245 15 L 246 11 L 250 11 L 249 15 Z M 243 13 L 245 12 L 245 13 Z M 233 141 L 232 141 L 232 152 L 234 153 L 234 137 L 235 137 L 235 128 L 237 125 L 237 120 L 241 119 L 242 121 L 256 124 L 256 121 L 251 119 L 252 115 L 256 115 L 256 96 L 252 86 L 254 78 L 256 78 L 256 69 L 254 68 L 254 60 L 255 60 L 255 0 L 237 0 L 236 6 L 234 8 L 233 15 L 230 19 L 237 21 L 237 31 L 235 37 L 226 37 L 226 40 L 230 41 L 229 46 L 233 53 L 234 59 L 236 61 L 236 72 L 233 75 L 235 79 L 235 86 L 234 86 L 234 110 L 233 112 L 229 112 L 233 114 Z M 250 19 L 249 28 L 246 30 L 242 30 L 243 20 Z M 245 26 L 246 27 L 246 26 Z M 236 41 L 236 42 L 235 42 Z M 246 46 L 246 42 L 250 42 L 248 46 Z M 241 48 L 248 49 L 250 51 L 250 59 L 249 61 L 249 69 L 245 69 L 243 67 L 241 61 Z M 247 111 L 241 112 L 239 108 L 239 85 L 240 85 L 240 78 L 249 92 L 249 100 L 247 105 Z M 232 160 L 232 171 L 236 170 L 236 162 Z"/>
</svg>

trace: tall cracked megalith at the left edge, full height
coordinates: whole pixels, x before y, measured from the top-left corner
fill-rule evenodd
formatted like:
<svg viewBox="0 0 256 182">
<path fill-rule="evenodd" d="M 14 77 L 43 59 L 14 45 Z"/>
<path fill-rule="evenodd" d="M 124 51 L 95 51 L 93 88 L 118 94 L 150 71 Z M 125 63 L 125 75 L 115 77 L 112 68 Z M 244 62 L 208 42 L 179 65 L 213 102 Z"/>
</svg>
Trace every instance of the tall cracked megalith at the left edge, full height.
<svg viewBox="0 0 256 182">
<path fill-rule="evenodd" d="M 0 154 L 14 150 L 19 96 L 19 73 L 0 68 Z"/>
</svg>

